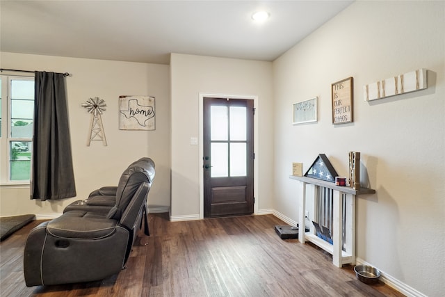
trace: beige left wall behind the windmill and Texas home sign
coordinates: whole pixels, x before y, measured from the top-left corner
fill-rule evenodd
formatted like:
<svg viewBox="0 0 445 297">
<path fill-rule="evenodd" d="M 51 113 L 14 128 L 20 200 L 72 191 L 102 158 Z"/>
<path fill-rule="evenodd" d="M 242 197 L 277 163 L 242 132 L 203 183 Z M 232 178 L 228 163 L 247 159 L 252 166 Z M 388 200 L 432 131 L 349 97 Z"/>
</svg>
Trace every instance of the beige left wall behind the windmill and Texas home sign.
<svg viewBox="0 0 445 297">
<path fill-rule="evenodd" d="M 168 65 L 127 63 L 82 58 L 0 53 L 1 67 L 19 70 L 70 72 L 67 100 L 77 197 L 40 202 L 29 199 L 29 186 L 0 188 L 0 216 L 36 214 L 58 216 L 70 202 L 88 197 L 100 186 L 117 185 L 122 171 L 142 156 L 156 163 L 156 178 L 149 193 L 149 209 L 170 207 L 170 70 Z M 17 74 L 17 72 L 15 72 Z M 156 130 L 119 130 L 120 95 L 156 97 Z M 81 107 L 90 97 L 106 102 L 102 115 L 108 146 L 87 146 L 90 114 Z M 3 162 L 3 160 L 2 160 Z"/>
</svg>

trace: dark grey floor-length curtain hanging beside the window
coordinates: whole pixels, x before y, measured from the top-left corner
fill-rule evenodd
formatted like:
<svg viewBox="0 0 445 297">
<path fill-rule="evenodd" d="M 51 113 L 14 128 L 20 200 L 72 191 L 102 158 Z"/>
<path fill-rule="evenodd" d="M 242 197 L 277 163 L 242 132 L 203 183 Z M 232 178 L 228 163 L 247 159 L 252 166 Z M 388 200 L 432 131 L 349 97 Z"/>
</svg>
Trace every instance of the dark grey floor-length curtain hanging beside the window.
<svg viewBox="0 0 445 297">
<path fill-rule="evenodd" d="M 65 77 L 35 72 L 31 199 L 76 195 L 72 166 Z"/>
</svg>

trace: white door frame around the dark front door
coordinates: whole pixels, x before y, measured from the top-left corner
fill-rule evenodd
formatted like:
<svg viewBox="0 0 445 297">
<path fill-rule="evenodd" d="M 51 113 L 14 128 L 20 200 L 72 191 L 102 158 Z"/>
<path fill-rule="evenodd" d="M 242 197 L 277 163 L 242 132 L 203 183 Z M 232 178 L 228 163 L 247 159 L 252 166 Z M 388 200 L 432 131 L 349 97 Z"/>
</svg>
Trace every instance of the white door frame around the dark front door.
<svg viewBox="0 0 445 297">
<path fill-rule="evenodd" d="M 259 147 L 258 147 L 258 96 L 254 95 L 223 95 L 223 94 L 213 94 L 213 93 L 200 93 L 200 218 L 204 218 L 204 170 L 202 170 L 202 166 L 204 166 L 204 131 L 203 131 L 203 123 L 204 123 L 204 97 L 210 98 L 231 98 L 231 99 L 250 99 L 253 100 L 253 108 L 255 109 L 255 115 L 253 117 L 253 151 L 255 154 L 255 159 L 253 162 L 253 196 L 254 196 L 254 204 L 253 204 L 253 213 L 258 214 L 258 202 L 259 202 L 259 193 L 258 193 L 258 158 L 259 158 Z"/>
</svg>

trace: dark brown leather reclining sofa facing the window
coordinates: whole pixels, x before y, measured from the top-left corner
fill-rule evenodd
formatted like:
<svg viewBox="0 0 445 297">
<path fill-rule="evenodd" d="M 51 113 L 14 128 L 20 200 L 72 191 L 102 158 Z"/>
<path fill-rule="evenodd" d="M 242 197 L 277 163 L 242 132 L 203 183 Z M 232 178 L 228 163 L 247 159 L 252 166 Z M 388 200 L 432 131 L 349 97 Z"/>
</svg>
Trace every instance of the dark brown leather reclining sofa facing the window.
<svg viewBox="0 0 445 297">
<path fill-rule="evenodd" d="M 102 194 L 93 191 L 87 200 L 67 206 L 62 216 L 31 230 L 24 249 L 26 286 L 90 282 L 118 273 L 143 218 L 147 231 L 146 202 L 154 175 L 152 159 L 139 159 L 122 173 L 118 186 L 104 187 Z"/>
</svg>

